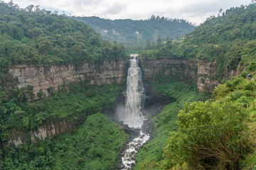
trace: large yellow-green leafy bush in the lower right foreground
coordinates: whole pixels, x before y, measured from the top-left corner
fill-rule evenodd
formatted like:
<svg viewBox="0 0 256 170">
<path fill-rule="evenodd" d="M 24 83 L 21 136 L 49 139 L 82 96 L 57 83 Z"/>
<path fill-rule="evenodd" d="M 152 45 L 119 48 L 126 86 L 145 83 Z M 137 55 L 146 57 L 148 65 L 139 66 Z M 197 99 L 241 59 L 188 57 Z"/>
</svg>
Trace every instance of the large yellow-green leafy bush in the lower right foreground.
<svg viewBox="0 0 256 170">
<path fill-rule="evenodd" d="M 237 103 L 187 103 L 178 114 L 178 132 L 164 148 L 164 169 L 187 162 L 191 168 L 238 169 L 248 152 L 247 113 Z"/>
</svg>

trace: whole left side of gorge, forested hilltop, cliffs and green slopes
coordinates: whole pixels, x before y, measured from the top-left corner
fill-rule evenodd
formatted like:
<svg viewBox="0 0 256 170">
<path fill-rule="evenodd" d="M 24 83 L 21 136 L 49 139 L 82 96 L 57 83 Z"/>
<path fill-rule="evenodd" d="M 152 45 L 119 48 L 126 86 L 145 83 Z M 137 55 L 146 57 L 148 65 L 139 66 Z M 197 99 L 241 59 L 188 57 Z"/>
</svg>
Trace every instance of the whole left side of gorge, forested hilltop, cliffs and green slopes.
<svg viewBox="0 0 256 170">
<path fill-rule="evenodd" d="M 122 90 L 126 57 L 85 23 L 1 1 L 0 169 L 119 166 L 127 133 L 100 112 Z"/>
</svg>

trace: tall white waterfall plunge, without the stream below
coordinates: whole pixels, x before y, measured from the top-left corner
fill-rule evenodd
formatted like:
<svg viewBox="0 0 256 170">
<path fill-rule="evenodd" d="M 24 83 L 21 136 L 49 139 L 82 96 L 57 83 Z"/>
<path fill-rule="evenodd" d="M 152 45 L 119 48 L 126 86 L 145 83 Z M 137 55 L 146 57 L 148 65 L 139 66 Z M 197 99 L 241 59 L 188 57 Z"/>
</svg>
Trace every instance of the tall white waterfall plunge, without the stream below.
<svg viewBox="0 0 256 170">
<path fill-rule="evenodd" d="M 139 68 L 137 55 L 131 55 L 127 74 L 127 90 L 124 124 L 140 128 L 144 120 L 142 115 L 144 106 L 144 88 L 142 84 L 142 70 Z"/>
</svg>

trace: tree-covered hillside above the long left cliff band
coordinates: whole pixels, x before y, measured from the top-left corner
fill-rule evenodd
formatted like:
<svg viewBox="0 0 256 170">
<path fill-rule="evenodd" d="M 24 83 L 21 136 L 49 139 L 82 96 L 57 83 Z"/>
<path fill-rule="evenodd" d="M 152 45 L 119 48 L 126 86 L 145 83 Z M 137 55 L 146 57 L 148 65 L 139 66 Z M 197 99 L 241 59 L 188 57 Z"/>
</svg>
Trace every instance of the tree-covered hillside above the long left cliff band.
<svg viewBox="0 0 256 170">
<path fill-rule="evenodd" d="M 127 57 L 124 46 L 102 40 L 90 26 L 33 5 L 18 8 L 0 1 L 0 84 L 8 91 L 16 81 L 15 64 L 50 67 Z"/>
</svg>

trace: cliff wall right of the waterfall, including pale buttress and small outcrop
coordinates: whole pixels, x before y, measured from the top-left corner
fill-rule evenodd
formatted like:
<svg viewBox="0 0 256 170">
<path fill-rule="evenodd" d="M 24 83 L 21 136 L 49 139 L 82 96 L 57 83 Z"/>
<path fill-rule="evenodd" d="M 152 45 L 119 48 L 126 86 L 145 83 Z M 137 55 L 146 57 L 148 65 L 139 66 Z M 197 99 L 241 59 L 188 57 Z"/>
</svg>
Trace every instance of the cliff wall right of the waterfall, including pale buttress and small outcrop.
<svg viewBox="0 0 256 170">
<path fill-rule="evenodd" d="M 199 91 L 213 91 L 218 86 L 216 76 L 218 63 L 206 62 L 203 60 L 141 60 L 144 79 L 154 81 L 159 77 L 172 76 L 178 81 L 195 81 Z M 238 66 L 236 70 L 230 70 L 228 74 L 223 75 L 225 79 L 232 79 L 242 72 L 242 67 Z M 225 73 L 223 73 L 225 74 Z"/>
</svg>

